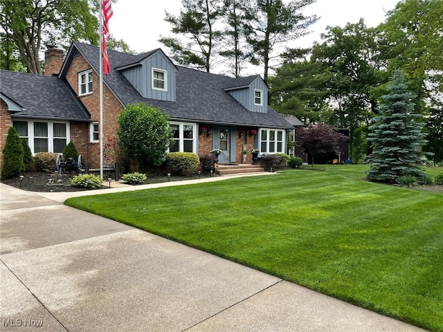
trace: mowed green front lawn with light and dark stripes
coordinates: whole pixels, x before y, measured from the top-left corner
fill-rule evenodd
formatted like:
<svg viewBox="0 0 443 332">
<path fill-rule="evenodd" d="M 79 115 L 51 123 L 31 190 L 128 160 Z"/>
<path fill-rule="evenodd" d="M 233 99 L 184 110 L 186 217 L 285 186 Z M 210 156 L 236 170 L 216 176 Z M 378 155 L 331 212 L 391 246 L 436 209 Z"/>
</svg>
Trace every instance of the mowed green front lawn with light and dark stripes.
<svg viewBox="0 0 443 332">
<path fill-rule="evenodd" d="M 323 168 L 66 204 L 443 331 L 443 194 Z"/>
</svg>

